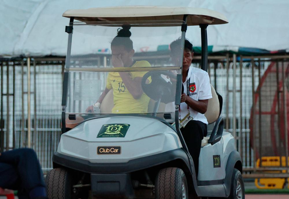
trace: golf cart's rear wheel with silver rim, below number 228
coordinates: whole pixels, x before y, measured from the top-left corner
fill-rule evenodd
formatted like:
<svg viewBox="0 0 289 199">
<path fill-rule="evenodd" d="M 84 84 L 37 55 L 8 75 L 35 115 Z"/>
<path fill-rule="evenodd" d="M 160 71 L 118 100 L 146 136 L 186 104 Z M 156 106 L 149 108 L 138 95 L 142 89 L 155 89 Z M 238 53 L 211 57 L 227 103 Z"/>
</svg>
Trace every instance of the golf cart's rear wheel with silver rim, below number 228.
<svg viewBox="0 0 289 199">
<path fill-rule="evenodd" d="M 245 188 L 241 172 L 234 168 L 231 182 L 231 192 L 228 199 L 244 199 Z"/>
</svg>

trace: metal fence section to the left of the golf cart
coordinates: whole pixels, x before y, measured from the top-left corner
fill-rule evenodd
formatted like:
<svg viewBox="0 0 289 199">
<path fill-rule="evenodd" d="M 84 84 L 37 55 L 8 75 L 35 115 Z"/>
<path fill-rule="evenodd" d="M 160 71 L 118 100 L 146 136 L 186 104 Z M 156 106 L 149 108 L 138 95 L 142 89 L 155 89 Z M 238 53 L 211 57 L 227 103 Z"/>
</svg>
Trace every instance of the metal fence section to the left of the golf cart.
<svg viewBox="0 0 289 199">
<path fill-rule="evenodd" d="M 52 168 L 60 140 L 63 64 L 32 59 L 28 89 L 27 59 L 1 62 L 1 151 L 31 147 L 43 170 Z"/>
</svg>

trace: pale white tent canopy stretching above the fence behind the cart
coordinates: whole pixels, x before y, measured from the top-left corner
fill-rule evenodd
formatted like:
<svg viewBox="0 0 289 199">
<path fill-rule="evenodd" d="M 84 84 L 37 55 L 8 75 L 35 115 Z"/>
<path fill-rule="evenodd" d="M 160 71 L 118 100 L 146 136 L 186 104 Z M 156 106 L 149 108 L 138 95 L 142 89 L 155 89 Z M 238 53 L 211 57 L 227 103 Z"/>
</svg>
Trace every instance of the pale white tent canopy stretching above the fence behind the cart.
<svg viewBox="0 0 289 199">
<path fill-rule="evenodd" d="M 87 0 L 85 3 L 76 0 L 1 0 L 0 56 L 65 56 L 68 34 L 64 29 L 69 19 L 62 14 L 66 10 L 118 5 L 189 6 L 216 10 L 227 17 L 229 24 L 209 26 L 208 45 L 289 49 L 287 0 Z M 194 46 L 201 45 L 199 29 L 190 27 L 187 33 L 190 34 L 186 37 Z M 170 42 L 164 38 L 164 44 Z"/>
</svg>

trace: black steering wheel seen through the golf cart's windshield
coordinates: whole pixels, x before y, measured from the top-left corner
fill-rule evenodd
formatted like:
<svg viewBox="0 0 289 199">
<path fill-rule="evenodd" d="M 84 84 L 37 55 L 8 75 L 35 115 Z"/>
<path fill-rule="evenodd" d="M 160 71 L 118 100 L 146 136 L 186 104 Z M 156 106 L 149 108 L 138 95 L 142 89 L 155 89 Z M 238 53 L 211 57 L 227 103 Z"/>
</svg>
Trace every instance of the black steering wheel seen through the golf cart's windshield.
<svg viewBox="0 0 289 199">
<path fill-rule="evenodd" d="M 169 71 L 149 71 L 142 77 L 142 90 L 151 99 L 165 104 L 175 101 L 176 85 L 167 82 L 161 75 L 169 78 L 176 78 L 176 75 Z M 151 77 L 151 82 L 146 84 L 147 79 Z"/>
</svg>

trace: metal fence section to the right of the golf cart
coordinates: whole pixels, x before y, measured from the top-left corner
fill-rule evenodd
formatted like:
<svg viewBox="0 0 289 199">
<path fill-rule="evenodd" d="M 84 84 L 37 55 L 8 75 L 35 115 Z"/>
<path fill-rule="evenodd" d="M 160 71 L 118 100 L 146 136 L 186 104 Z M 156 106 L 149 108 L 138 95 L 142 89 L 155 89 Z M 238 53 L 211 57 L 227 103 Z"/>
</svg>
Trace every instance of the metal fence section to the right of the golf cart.
<svg viewBox="0 0 289 199">
<path fill-rule="evenodd" d="M 224 98 L 221 116 L 225 118 L 226 130 L 236 139 L 243 177 L 289 177 L 288 58 L 240 56 L 237 60 L 235 55 L 227 55 L 223 62 L 211 60 L 213 67 L 208 72 Z M 227 72 L 219 74 L 218 68 Z M 227 76 L 226 88 L 221 86 L 220 90 L 222 74 Z"/>
</svg>

